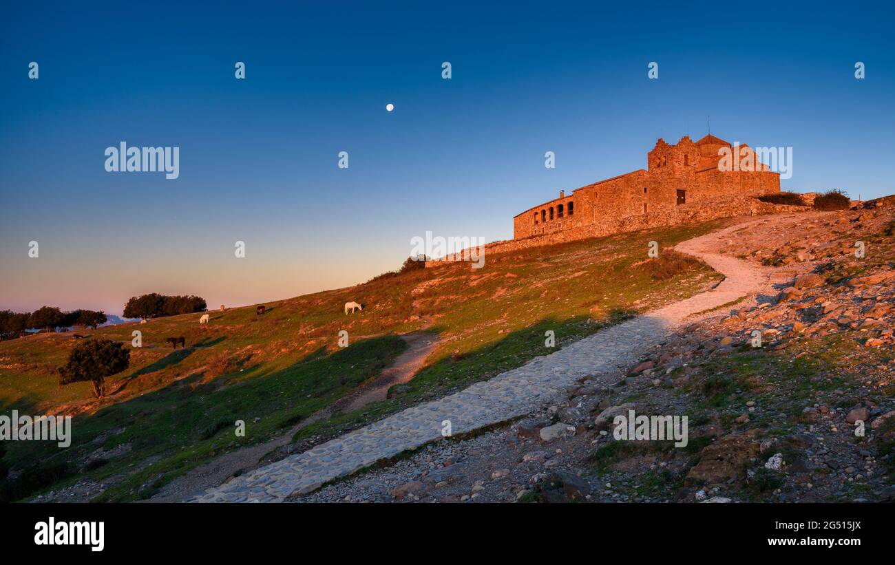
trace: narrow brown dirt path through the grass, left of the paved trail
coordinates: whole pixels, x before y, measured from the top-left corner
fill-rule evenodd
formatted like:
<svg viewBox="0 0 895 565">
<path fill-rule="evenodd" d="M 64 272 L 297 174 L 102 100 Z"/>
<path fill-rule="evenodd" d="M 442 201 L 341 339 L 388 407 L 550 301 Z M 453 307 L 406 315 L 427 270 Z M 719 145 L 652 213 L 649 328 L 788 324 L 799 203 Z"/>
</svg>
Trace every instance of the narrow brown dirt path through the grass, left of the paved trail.
<svg viewBox="0 0 895 565">
<path fill-rule="evenodd" d="M 361 409 L 371 402 L 384 401 L 389 387 L 413 379 L 437 344 L 437 338 L 433 333 L 413 332 L 405 333 L 400 337 L 410 347 L 399 355 L 395 359 L 395 363 L 385 369 L 373 383 L 362 386 L 358 391 L 339 399 L 325 409 L 318 410 L 288 432 L 277 435 L 268 442 L 231 451 L 192 469 L 183 476 L 178 476 L 162 487 L 155 496 L 144 502 L 181 502 L 204 489 L 224 483 L 239 471 L 246 472 L 257 468 L 265 455 L 291 443 L 294 434 L 304 426 L 327 419 L 337 412 Z"/>
</svg>

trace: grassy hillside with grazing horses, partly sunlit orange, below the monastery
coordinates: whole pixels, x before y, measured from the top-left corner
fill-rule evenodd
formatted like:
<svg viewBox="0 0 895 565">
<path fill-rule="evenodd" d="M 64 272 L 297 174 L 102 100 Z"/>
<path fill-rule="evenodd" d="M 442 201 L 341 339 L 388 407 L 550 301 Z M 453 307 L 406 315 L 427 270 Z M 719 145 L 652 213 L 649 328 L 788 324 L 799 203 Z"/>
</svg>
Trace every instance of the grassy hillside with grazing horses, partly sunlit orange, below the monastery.
<svg viewBox="0 0 895 565">
<path fill-rule="evenodd" d="M 670 278 L 647 261 L 650 240 L 670 247 L 712 231 L 717 223 L 639 232 L 526 249 L 486 257 L 473 270 L 454 264 L 375 279 L 337 291 L 254 308 L 174 316 L 149 324 L 115 325 L 90 335 L 131 343 L 131 367 L 107 383 L 102 401 L 90 384 L 57 385 L 55 367 L 75 341 L 71 333 L 38 334 L 0 343 L 0 411 L 75 415 L 72 447 L 8 443 L 4 462 L 30 485 L 13 498 L 48 485 L 97 481 L 101 500 L 145 498 L 216 454 L 283 433 L 314 411 L 374 379 L 405 349 L 396 335 L 428 329 L 439 339 L 427 366 L 392 400 L 307 426 L 295 440 L 307 444 L 349 427 L 488 378 L 636 310 L 686 298 L 717 274 L 682 262 Z M 364 305 L 345 316 L 346 301 Z M 345 330 L 351 345 L 337 347 Z M 85 333 L 85 332 L 80 332 Z M 166 345 L 186 338 L 185 350 Z M 246 423 L 235 437 L 234 422 Z M 77 476 L 74 473 L 77 472 Z"/>
</svg>

